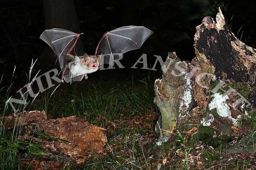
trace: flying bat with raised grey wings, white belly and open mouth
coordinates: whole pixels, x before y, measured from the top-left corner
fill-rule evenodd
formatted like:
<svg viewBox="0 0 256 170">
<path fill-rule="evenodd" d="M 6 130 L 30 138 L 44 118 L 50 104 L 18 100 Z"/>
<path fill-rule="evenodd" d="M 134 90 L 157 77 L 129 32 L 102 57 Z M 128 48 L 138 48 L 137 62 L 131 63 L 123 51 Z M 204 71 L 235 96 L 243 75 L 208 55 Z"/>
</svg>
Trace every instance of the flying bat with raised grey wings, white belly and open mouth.
<svg viewBox="0 0 256 170">
<path fill-rule="evenodd" d="M 83 34 L 83 33 L 81 33 Z M 62 69 L 62 79 L 66 82 L 87 79 L 87 74 L 99 69 L 102 56 L 114 59 L 114 54 L 124 54 L 139 49 L 153 32 L 143 26 L 124 26 L 106 32 L 98 45 L 94 55 L 77 56 L 70 54 L 76 46 L 81 34 L 59 28 L 45 30 L 40 39 L 46 42 L 58 57 Z M 104 62 L 105 63 L 105 59 Z"/>
</svg>

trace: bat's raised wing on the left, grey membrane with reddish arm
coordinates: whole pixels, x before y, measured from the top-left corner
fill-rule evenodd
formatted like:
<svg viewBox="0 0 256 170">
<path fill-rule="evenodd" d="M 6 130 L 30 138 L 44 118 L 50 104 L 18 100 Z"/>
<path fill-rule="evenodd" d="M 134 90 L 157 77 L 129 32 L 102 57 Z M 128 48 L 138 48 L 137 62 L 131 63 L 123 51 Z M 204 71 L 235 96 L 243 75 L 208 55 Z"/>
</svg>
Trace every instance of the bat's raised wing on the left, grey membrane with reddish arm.
<svg viewBox="0 0 256 170">
<path fill-rule="evenodd" d="M 45 30 L 40 39 L 46 42 L 58 56 L 61 69 L 64 66 L 64 58 L 69 54 L 79 38 L 80 34 L 76 34 L 64 29 L 52 28 Z"/>
</svg>

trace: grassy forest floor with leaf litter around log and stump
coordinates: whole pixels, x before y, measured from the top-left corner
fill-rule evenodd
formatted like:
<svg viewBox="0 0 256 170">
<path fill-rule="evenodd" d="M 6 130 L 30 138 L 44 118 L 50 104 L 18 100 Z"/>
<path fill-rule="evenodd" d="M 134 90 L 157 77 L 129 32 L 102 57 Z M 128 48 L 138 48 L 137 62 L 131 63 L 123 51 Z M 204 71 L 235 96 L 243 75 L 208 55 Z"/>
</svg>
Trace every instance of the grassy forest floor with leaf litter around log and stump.
<svg viewBox="0 0 256 170">
<path fill-rule="evenodd" d="M 105 128 L 108 139 L 102 154 L 91 153 L 84 164 L 67 164 L 64 169 L 256 169 L 255 155 L 226 155 L 223 150 L 227 143 L 213 147 L 198 140 L 199 125 L 189 131 L 177 131 L 172 140 L 157 146 L 154 126 L 160 112 L 154 104 L 154 79 L 146 77 L 134 81 L 131 77 L 126 81 L 97 84 L 62 84 L 51 96 L 53 90 L 41 94 L 26 110 L 44 110 L 47 117 L 52 118 L 73 115 L 85 118 Z M 20 152 L 26 153 L 26 148 L 15 145 L 17 137 L 7 136 L 4 131 L 1 128 L 0 169 L 22 169 L 18 166 L 19 156 Z"/>
</svg>

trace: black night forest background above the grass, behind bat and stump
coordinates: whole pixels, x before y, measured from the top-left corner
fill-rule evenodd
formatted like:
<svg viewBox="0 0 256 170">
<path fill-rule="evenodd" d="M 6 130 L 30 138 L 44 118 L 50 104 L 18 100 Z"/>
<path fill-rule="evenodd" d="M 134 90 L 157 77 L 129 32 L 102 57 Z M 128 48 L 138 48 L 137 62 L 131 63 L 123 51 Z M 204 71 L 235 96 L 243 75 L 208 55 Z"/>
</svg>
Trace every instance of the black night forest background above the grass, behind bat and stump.
<svg viewBox="0 0 256 170">
<path fill-rule="evenodd" d="M 62 0 L 61 3 L 66 1 Z M 49 57 L 43 55 L 46 44 L 39 39 L 47 27 L 44 17 L 47 9 L 44 9 L 44 2 L 1 0 L 0 4 L 1 86 L 10 85 L 16 65 L 12 80 L 15 93 L 26 84 L 32 59 L 35 61 L 38 58 L 34 67 L 35 73 L 41 69 L 40 73 L 43 74 L 52 68 L 59 69 L 59 66 L 58 62 L 47 62 L 50 61 Z M 253 0 L 74 0 L 74 4 L 80 31 L 84 33 L 81 39 L 84 41 L 83 47 L 87 54 L 93 54 L 102 35 L 114 28 L 135 25 L 145 26 L 154 31 L 141 49 L 124 55 L 122 64 L 125 69 L 98 71 L 89 75 L 86 83 L 104 79 L 125 81 L 125 78 L 131 75 L 138 79 L 145 77 L 148 70 L 130 68 L 143 53 L 147 54 L 148 65 L 151 67 L 155 61 L 153 55 L 160 55 L 165 60 L 169 51 L 176 51 L 180 59 L 191 60 L 194 57 L 195 27 L 201 24 L 205 16 L 215 18 L 218 7 L 221 7 L 233 33 L 247 45 L 256 48 L 256 10 Z M 65 27 L 68 29 L 68 24 Z M 56 57 L 53 61 L 55 59 Z M 157 68 L 157 71 L 151 72 L 155 77 L 160 77 L 160 65 Z"/>
</svg>

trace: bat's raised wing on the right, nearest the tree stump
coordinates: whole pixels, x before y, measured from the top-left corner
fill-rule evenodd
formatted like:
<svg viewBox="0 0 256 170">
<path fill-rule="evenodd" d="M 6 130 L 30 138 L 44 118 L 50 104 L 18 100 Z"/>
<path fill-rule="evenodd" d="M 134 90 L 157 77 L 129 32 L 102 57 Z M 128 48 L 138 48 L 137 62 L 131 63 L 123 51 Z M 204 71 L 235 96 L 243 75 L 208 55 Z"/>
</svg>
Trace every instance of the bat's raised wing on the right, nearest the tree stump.
<svg viewBox="0 0 256 170">
<path fill-rule="evenodd" d="M 97 45 L 95 55 L 108 54 L 113 59 L 113 54 L 124 54 L 128 51 L 139 49 L 141 45 L 153 34 L 143 26 L 124 26 L 106 32 Z"/>
</svg>

